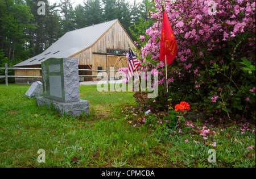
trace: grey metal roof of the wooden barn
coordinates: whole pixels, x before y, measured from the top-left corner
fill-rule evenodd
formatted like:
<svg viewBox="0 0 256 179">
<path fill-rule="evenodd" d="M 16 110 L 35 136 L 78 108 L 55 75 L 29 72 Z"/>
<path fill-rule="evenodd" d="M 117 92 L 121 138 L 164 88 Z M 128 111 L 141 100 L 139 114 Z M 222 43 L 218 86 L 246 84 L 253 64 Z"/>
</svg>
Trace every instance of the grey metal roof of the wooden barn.
<svg viewBox="0 0 256 179">
<path fill-rule="evenodd" d="M 96 43 L 96 41 L 117 21 L 118 19 L 114 19 L 108 22 L 69 31 L 43 53 L 25 60 L 22 63 L 16 64 L 14 67 L 39 65 L 49 58 L 63 58 L 75 55 Z"/>
</svg>

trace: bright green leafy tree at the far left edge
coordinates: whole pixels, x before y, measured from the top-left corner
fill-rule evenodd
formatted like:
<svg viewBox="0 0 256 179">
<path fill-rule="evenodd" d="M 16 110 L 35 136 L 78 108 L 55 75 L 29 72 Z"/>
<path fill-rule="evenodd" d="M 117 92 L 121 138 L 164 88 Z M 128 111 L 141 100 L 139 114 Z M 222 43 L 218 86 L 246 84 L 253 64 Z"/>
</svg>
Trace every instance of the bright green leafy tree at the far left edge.
<svg viewBox="0 0 256 179">
<path fill-rule="evenodd" d="M 26 52 L 26 41 L 31 29 L 33 18 L 30 8 L 24 1 L 0 1 L 0 32 L 1 49 L 8 58 L 8 63 L 15 63 Z"/>
</svg>

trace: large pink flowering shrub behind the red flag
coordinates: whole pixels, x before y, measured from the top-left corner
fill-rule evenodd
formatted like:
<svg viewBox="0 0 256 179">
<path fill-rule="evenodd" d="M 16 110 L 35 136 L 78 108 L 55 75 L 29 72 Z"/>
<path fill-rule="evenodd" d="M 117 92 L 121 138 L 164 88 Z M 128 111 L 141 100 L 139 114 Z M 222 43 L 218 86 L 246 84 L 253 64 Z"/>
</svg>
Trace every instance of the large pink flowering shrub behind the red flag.
<svg viewBox="0 0 256 179">
<path fill-rule="evenodd" d="M 168 66 L 171 98 L 176 103 L 193 103 L 192 108 L 209 115 L 255 116 L 255 1 L 154 2 L 155 11 L 148 14 L 155 23 L 139 36 L 138 43 L 141 71 L 159 72 L 156 101 L 167 101 L 165 68 L 159 61 L 165 6 L 178 46 L 174 63 Z"/>
</svg>

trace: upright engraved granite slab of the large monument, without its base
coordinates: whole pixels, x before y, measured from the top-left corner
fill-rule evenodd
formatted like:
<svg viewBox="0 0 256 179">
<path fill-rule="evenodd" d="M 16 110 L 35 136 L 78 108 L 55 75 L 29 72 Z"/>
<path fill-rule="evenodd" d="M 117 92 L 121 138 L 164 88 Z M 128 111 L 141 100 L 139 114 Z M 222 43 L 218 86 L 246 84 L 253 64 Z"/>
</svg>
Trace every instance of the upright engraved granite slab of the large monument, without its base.
<svg viewBox="0 0 256 179">
<path fill-rule="evenodd" d="M 77 59 L 48 59 L 42 62 L 43 95 L 63 102 L 80 100 Z"/>
</svg>

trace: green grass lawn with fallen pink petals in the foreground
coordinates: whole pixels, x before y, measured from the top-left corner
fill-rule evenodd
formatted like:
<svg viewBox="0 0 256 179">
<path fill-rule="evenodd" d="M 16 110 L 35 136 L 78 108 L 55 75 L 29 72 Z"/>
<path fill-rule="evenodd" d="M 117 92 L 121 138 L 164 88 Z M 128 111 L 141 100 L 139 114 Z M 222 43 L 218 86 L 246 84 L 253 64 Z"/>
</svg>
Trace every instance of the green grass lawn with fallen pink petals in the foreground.
<svg viewBox="0 0 256 179">
<path fill-rule="evenodd" d="M 255 124 L 150 126 L 133 92 L 96 85 L 80 85 L 90 115 L 62 116 L 27 98 L 29 87 L 0 85 L 0 167 L 255 167 Z M 46 163 L 38 163 L 39 149 Z"/>
</svg>

